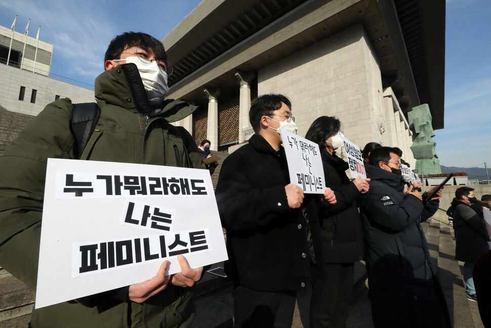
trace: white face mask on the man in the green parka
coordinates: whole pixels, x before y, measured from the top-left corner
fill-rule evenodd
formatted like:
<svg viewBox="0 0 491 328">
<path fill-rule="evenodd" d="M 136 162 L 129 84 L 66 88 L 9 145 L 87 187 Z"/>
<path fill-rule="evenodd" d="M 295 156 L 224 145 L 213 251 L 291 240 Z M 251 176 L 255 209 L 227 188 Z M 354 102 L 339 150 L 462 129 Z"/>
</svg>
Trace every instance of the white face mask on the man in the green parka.
<svg viewBox="0 0 491 328">
<path fill-rule="evenodd" d="M 167 74 L 158 68 L 157 62 L 143 62 L 142 58 L 128 57 L 126 59 L 116 59 L 116 61 L 126 60 L 127 63 L 133 63 L 138 67 L 143 86 L 147 92 L 148 99 L 163 97 L 169 93 L 167 85 Z"/>
</svg>

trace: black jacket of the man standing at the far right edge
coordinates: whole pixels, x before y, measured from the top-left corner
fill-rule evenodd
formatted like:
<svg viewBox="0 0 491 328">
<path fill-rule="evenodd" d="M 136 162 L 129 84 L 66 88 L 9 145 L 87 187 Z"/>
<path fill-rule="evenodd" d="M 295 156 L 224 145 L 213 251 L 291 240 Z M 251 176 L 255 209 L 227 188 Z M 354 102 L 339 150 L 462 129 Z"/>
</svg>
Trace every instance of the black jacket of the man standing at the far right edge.
<svg viewBox="0 0 491 328">
<path fill-rule="evenodd" d="M 475 263 L 483 253 L 489 250 L 487 243 L 489 235 L 482 215 L 477 212 L 482 213 L 481 207 L 479 205 L 471 207 L 457 198 L 452 201 L 456 260 Z"/>
</svg>

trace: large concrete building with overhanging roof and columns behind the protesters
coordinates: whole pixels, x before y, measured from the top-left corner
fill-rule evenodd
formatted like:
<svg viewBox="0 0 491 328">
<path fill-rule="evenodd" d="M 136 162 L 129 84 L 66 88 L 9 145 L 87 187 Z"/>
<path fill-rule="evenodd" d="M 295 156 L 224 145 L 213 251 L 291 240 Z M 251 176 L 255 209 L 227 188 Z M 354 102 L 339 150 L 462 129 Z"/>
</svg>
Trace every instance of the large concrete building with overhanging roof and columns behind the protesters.
<svg viewBox="0 0 491 328">
<path fill-rule="evenodd" d="M 441 0 L 204 0 L 162 43 L 175 66 L 170 97 L 200 104 L 178 124 L 214 150 L 247 141 L 251 101 L 271 92 L 292 100 L 299 135 L 336 116 L 361 148 L 397 146 L 413 167 L 407 113 L 429 103 L 443 128 Z"/>
</svg>

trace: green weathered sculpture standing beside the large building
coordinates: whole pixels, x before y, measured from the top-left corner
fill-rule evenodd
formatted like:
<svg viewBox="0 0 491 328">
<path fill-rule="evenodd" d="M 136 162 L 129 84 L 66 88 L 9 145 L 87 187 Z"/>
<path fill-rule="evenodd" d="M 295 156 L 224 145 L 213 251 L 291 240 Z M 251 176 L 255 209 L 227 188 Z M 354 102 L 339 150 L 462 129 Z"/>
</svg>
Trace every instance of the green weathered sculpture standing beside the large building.
<svg viewBox="0 0 491 328">
<path fill-rule="evenodd" d="M 440 160 L 436 155 L 436 142 L 431 140 L 435 136 L 431 126 L 431 113 L 428 104 L 422 104 L 414 107 L 413 111 L 407 113 L 410 126 L 416 132 L 416 138 L 413 141 L 411 150 L 416 159 L 416 169 L 423 173 L 437 174 L 441 173 Z"/>
</svg>

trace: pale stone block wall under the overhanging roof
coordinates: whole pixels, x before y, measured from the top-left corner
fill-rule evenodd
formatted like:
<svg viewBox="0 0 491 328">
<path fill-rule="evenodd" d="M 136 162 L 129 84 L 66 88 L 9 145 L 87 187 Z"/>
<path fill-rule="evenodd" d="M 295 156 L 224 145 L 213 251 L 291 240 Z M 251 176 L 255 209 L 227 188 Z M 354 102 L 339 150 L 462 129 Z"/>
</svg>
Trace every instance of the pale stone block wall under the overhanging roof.
<svg viewBox="0 0 491 328">
<path fill-rule="evenodd" d="M 290 98 L 301 136 L 317 117 L 336 116 L 345 136 L 360 148 L 372 141 L 397 145 L 413 162 L 409 130 L 393 119 L 397 108 L 384 102 L 378 58 L 361 24 L 259 70 L 258 94 L 270 92 Z M 384 123 L 394 131 L 399 124 L 392 134 L 396 140 L 382 132 Z"/>
</svg>

